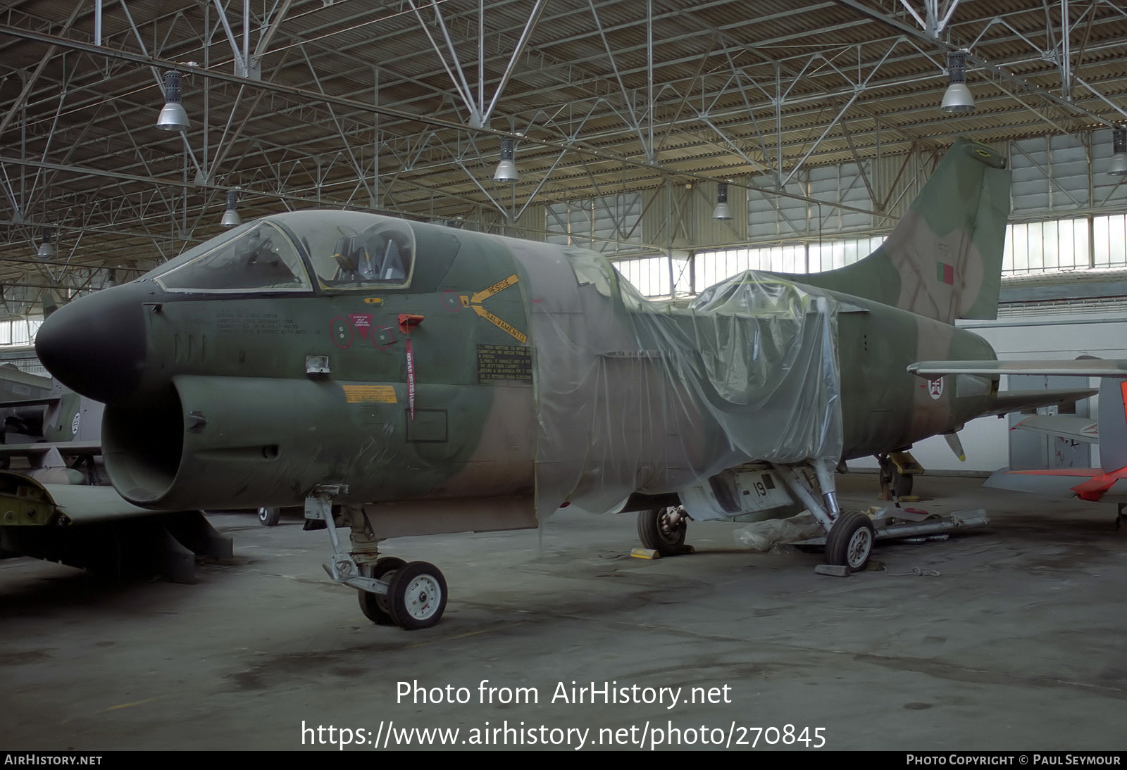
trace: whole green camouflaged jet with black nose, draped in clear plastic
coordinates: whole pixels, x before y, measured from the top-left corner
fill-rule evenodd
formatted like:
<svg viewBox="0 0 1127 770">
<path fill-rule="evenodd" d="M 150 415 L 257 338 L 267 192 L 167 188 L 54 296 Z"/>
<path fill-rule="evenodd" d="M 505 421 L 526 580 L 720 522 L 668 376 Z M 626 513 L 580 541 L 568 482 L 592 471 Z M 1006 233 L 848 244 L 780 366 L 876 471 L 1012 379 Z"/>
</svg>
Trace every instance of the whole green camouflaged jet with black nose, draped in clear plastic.
<svg viewBox="0 0 1127 770">
<path fill-rule="evenodd" d="M 860 262 L 665 303 L 578 248 L 292 212 L 72 302 L 36 349 L 106 403 L 125 500 L 303 505 L 376 624 L 431 626 L 447 596 L 434 565 L 381 557 L 381 540 L 531 528 L 569 504 L 640 511 L 666 554 L 690 518 L 808 508 L 827 561 L 859 570 L 873 529 L 837 503 L 841 462 L 1086 395 L 907 371 L 995 358 L 952 322 L 995 313 L 1008 209 L 1005 159 L 960 140 Z"/>
</svg>

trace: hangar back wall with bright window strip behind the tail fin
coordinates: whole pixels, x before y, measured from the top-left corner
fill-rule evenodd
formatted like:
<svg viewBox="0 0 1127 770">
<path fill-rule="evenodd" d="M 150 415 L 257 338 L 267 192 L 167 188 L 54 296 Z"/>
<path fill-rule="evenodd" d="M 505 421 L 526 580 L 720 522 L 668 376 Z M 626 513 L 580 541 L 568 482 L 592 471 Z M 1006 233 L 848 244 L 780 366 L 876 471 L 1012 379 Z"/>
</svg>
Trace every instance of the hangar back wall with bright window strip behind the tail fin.
<svg viewBox="0 0 1127 770">
<path fill-rule="evenodd" d="M 1013 169 L 1008 272 L 1127 266 L 1127 185 L 1106 173 L 1110 140 L 1101 129 L 1000 147 Z M 921 146 L 801 168 L 783 186 L 850 208 L 774 195 L 770 179 L 749 173 L 728 190 L 730 221 L 711 217 L 716 186 L 699 180 L 541 204 L 532 216 L 542 215 L 551 243 L 624 260 L 620 270 L 647 296 L 694 294 L 742 269 L 807 272 L 855 261 L 903 215 L 940 155 Z"/>
</svg>

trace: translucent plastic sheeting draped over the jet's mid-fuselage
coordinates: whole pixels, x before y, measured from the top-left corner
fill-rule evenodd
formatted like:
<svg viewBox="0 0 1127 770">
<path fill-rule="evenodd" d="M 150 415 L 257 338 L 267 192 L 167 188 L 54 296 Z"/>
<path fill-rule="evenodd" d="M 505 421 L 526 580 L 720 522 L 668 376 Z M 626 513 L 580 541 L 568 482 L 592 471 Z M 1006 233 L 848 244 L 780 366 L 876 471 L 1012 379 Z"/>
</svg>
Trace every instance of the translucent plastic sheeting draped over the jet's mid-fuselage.
<svg viewBox="0 0 1127 770">
<path fill-rule="evenodd" d="M 840 459 L 831 296 L 745 272 L 655 303 L 594 252 L 512 247 L 532 287 L 541 514 L 613 510 L 751 460 Z"/>
</svg>

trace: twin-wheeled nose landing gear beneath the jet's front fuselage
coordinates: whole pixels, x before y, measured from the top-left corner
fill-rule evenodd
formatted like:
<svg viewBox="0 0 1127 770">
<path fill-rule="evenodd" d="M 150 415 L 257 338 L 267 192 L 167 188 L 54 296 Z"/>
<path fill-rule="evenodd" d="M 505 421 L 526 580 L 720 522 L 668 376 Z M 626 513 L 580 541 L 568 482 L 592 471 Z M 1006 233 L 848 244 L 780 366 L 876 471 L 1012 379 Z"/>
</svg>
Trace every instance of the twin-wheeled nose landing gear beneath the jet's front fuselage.
<svg viewBox="0 0 1127 770">
<path fill-rule="evenodd" d="M 325 571 L 334 581 L 360 592 L 361 611 L 378 626 L 414 630 L 438 623 L 446 610 L 447 596 L 442 572 L 427 562 L 380 556 L 379 540 L 372 535 L 362 507 L 343 505 L 334 516 L 331 499 L 345 492 L 343 485 L 326 485 L 305 499 L 305 518 L 325 521 L 332 541 L 332 559 Z M 337 520 L 352 530 L 350 552 L 341 548 Z"/>
</svg>

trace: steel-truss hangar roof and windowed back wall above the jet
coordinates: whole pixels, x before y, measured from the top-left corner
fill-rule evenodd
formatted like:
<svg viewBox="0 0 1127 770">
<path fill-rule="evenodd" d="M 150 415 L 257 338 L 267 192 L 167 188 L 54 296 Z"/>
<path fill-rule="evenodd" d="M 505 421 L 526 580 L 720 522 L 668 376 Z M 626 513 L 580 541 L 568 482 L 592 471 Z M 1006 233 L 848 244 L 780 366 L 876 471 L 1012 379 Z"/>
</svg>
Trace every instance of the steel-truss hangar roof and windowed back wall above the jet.
<svg viewBox="0 0 1127 770">
<path fill-rule="evenodd" d="M 1038 351 L 999 355 L 1121 352 L 1127 11 L 1113 0 L 3 11 L 0 344 L 224 216 L 317 206 L 595 249 L 649 296 L 841 267 L 965 135 L 1013 169 L 1002 317 L 1085 313 L 1107 339 L 1080 350 L 1054 325 Z M 967 104 L 941 108 L 959 81 Z M 186 125 L 158 127 L 170 88 Z M 1006 464 L 1000 426 L 971 431 L 974 469 Z"/>
</svg>

